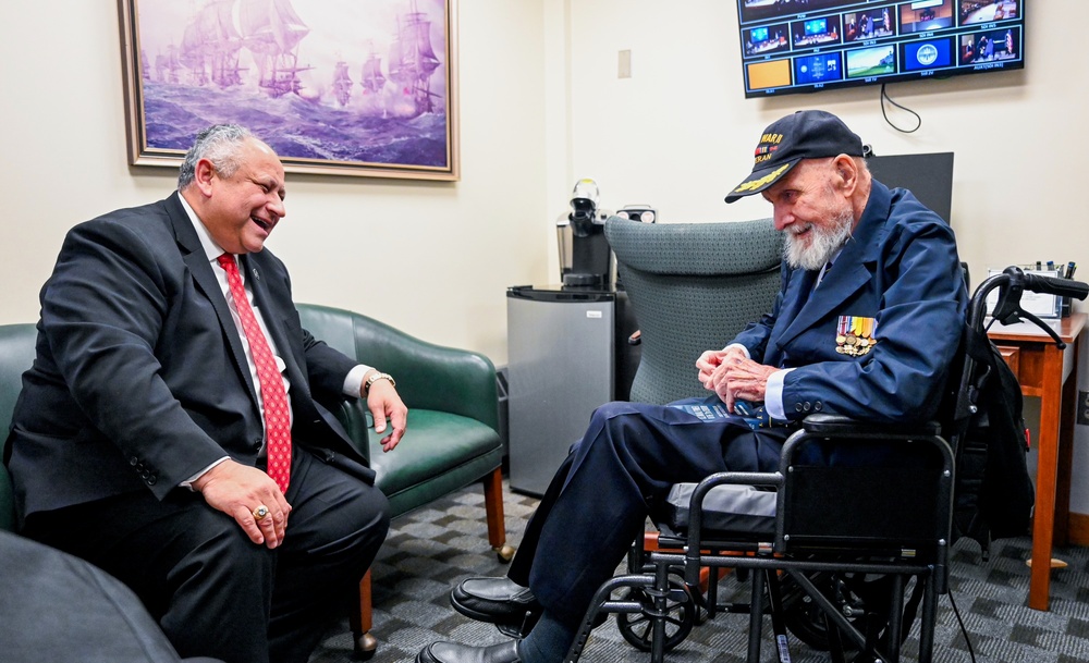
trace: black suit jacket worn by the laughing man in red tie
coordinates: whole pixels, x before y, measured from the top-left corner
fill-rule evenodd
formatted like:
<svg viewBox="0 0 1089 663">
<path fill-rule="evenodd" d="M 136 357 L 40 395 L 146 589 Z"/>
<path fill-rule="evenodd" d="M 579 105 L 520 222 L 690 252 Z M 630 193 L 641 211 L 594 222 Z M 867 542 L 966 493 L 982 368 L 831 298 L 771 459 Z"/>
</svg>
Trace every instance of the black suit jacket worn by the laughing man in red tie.
<svg viewBox="0 0 1089 663">
<path fill-rule="evenodd" d="M 302 329 L 268 249 L 241 266 L 286 363 L 294 443 L 365 465 L 318 404 L 343 398 L 356 361 Z M 162 499 L 223 455 L 257 463 L 264 426 L 237 328 L 179 194 L 72 229 L 40 300 L 8 443 L 21 519 L 130 491 Z"/>
</svg>

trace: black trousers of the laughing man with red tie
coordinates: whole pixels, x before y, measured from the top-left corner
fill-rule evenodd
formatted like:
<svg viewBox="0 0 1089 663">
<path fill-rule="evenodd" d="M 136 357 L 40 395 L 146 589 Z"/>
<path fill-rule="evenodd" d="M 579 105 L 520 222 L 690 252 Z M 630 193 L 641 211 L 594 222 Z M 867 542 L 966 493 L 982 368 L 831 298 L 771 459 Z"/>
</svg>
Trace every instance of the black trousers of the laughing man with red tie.
<svg viewBox="0 0 1089 663">
<path fill-rule="evenodd" d="M 389 530 L 376 488 L 295 445 L 276 550 L 186 490 L 131 493 L 27 518 L 28 537 L 129 585 L 182 656 L 305 663 Z"/>
</svg>

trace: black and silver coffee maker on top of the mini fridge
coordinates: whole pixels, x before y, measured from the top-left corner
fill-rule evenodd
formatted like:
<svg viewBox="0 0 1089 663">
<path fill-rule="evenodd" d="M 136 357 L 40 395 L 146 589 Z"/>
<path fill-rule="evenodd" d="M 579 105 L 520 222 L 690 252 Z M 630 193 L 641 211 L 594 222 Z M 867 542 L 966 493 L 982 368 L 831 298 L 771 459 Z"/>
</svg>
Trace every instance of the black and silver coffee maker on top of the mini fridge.
<svg viewBox="0 0 1089 663">
<path fill-rule="evenodd" d="M 571 211 L 555 221 L 560 273 L 565 286 L 608 290 L 613 284 L 612 250 L 605 242 L 609 212 L 598 208 L 598 185 L 584 179 L 571 194 Z"/>
</svg>

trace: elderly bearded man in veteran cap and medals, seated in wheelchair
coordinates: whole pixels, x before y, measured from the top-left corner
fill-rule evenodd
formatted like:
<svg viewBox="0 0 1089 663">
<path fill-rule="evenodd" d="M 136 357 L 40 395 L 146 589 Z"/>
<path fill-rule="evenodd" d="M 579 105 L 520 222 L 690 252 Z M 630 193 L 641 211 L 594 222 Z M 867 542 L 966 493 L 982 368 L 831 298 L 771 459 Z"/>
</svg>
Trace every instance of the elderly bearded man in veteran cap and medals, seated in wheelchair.
<svg viewBox="0 0 1089 663">
<path fill-rule="evenodd" d="M 528 636 L 486 648 L 436 642 L 418 663 L 560 661 L 594 592 L 672 484 L 776 470 L 783 442 L 810 413 L 886 422 L 935 413 L 967 306 L 949 224 L 910 192 L 873 181 L 861 139 L 822 111 L 764 131 L 751 173 L 726 201 L 752 194 L 772 204 L 786 235 L 782 288 L 770 314 L 696 361 L 713 394 L 598 408 L 507 577 L 469 578 L 451 592 L 477 619 L 536 619 Z M 813 453 L 825 452 L 808 459 L 845 455 Z"/>
</svg>

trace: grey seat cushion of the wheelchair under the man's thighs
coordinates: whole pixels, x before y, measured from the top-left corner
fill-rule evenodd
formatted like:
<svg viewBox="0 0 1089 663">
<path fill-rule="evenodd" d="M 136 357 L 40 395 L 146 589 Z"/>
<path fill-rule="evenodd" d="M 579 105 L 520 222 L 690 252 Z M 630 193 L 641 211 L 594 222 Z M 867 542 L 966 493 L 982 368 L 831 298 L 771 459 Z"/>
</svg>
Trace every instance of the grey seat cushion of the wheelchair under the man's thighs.
<svg viewBox="0 0 1089 663">
<path fill-rule="evenodd" d="M 689 523 L 689 502 L 696 483 L 676 483 L 656 516 L 674 532 L 685 532 Z M 702 530 L 745 538 L 772 537 L 775 533 L 776 493 L 752 486 L 715 486 L 703 500 Z"/>
</svg>

